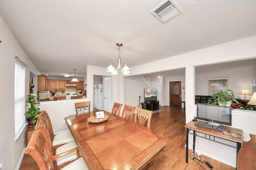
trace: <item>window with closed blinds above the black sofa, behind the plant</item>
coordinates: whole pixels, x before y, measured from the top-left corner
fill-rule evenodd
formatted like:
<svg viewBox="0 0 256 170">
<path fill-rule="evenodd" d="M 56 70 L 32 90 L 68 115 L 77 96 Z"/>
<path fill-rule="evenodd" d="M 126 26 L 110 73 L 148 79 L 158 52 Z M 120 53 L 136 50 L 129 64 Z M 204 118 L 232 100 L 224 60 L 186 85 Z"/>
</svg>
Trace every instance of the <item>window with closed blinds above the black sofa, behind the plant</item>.
<svg viewBox="0 0 256 170">
<path fill-rule="evenodd" d="M 220 90 L 228 90 L 228 79 L 212 79 L 208 80 L 208 95 L 212 96 L 212 92 L 219 92 Z"/>
</svg>

